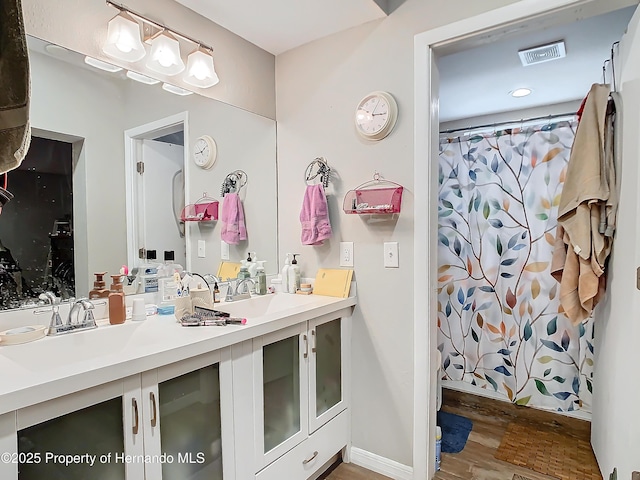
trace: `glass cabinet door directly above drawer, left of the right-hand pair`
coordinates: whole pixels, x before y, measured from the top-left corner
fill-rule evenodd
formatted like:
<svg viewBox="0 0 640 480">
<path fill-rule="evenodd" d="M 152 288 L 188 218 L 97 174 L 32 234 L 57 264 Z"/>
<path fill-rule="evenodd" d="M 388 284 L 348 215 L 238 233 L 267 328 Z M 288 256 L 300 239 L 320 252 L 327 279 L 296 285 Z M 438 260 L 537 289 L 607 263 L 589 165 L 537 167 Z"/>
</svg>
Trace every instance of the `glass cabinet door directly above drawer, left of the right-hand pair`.
<svg viewBox="0 0 640 480">
<path fill-rule="evenodd" d="M 255 371 L 259 377 L 256 391 L 260 392 L 260 410 L 256 415 L 256 436 L 260 440 L 259 466 L 264 466 L 307 436 L 309 352 L 303 326 L 266 335 L 257 342 Z"/>
</svg>

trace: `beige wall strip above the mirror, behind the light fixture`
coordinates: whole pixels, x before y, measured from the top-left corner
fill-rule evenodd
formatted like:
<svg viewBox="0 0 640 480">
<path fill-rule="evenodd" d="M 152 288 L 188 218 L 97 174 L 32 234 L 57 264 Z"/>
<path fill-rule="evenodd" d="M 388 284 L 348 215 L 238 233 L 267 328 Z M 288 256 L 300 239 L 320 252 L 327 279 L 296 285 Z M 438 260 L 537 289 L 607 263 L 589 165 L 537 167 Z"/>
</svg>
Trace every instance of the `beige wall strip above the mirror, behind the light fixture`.
<svg viewBox="0 0 640 480">
<path fill-rule="evenodd" d="M 125 4 L 141 15 L 213 47 L 220 83 L 199 89 L 198 93 L 275 118 L 275 58 L 272 54 L 173 0 L 128 0 Z M 107 23 L 118 13 L 104 0 L 22 0 L 22 7 L 27 34 L 139 73 L 148 73 L 145 59 L 128 64 L 102 53 Z M 183 58 L 193 49 L 183 41 Z M 151 76 L 160 78 L 157 74 Z M 193 89 L 179 77 L 161 79 Z"/>
</svg>

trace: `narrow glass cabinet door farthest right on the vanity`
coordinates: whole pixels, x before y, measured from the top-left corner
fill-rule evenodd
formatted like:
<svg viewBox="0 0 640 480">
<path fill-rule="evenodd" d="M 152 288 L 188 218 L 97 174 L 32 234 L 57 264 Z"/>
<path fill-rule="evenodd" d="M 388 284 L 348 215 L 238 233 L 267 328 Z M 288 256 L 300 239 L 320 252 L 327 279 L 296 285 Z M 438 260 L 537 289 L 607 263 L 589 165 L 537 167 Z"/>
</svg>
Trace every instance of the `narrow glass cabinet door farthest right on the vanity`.
<svg viewBox="0 0 640 480">
<path fill-rule="evenodd" d="M 310 431 L 340 413 L 344 401 L 344 338 L 340 318 L 310 323 Z"/>
</svg>

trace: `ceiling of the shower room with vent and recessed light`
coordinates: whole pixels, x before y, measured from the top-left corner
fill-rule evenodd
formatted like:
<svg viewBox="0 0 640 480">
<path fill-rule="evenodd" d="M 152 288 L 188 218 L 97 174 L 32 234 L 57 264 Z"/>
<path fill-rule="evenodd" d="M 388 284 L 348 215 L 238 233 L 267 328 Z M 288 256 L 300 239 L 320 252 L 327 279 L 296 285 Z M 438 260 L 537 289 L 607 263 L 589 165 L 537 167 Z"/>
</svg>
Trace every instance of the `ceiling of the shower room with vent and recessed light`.
<svg viewBox="0 0 640 480">
<path fill-rule="evenodd" d="M 628 7 L 563 26 L 523 34 L 438 59 L 440 120 L 581 100 L 602 82 L 602 65 L 633 15 Z M 567 56 L 523 67 L 518 50 L 564 40 Z M 527 97 L 509 92 L 527 87 Z"/>
</svg>

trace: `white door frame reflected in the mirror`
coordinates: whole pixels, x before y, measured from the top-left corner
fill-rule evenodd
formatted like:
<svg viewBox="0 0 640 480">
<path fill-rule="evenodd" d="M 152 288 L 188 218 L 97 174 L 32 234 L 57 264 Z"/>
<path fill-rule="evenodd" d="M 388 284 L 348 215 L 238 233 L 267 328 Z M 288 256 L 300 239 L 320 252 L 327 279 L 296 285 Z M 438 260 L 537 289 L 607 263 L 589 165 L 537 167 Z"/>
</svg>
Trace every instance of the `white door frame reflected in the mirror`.
<svg viewBox="0 0 640 480">
<path fill-rule="evenodd" d="M 127 208 L 127 265 L 129 268 L 139 265 L 138 245 L 136 242 L 135 219 L 138 214 L 138 203 L 136 187 L 136 164 L 142 160 L 142 140 L 152 139 L 158 136 L 163 130 L 182 125 L 184 129 L 184 196 L 189 197 L 189 112 L 181 112 L 150 123 L 145 123 L 138 127 L 130 128 L 124 132 L 124 168 L 125 168 L 125 197 Z M 187 271 L 191 271 L 191 242 L 189 229 L 185 228 L 185 247 Z"/>
</svg>

